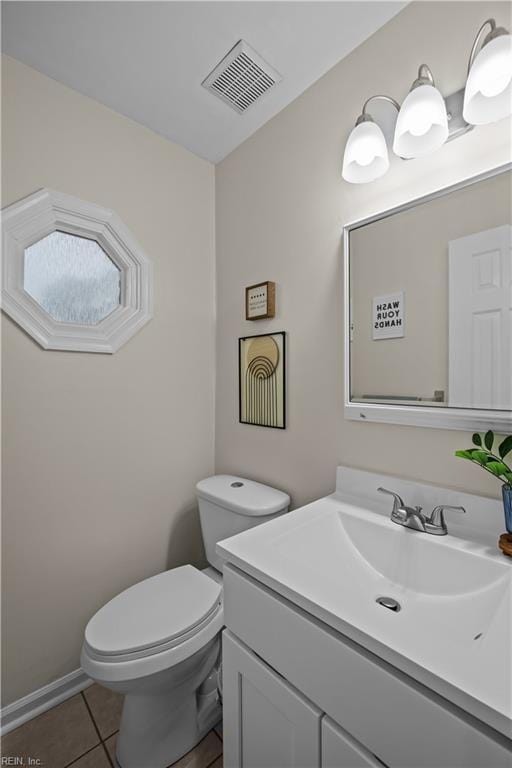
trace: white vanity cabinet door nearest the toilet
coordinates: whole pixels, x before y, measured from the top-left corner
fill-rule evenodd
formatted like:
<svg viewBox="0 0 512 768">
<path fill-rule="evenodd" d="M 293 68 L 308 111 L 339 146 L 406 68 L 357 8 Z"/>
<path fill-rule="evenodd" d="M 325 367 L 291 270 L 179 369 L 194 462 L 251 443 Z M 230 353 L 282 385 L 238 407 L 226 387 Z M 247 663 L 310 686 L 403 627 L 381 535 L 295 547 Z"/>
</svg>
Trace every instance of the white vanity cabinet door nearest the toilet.
<svg viewBox="0 0 512 768">
<path fill-rule="evenodd" d="M 322 713 L 223 633 L 225 768 L 320 768 Z"/>
</svg>

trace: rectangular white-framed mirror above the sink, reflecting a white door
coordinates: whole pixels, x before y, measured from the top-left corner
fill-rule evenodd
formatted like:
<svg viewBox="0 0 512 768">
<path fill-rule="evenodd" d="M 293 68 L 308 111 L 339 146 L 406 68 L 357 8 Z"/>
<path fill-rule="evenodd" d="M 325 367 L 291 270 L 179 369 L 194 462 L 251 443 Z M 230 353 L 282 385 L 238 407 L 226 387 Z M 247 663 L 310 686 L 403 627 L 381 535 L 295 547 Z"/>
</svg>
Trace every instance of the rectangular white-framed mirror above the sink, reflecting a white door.
<svg viewBox="0 0 512 768">
<path fill-rule="evenodd" d="M 344 230 L 345 413 L 512 428 L 512 170 Z"/>
</svg>

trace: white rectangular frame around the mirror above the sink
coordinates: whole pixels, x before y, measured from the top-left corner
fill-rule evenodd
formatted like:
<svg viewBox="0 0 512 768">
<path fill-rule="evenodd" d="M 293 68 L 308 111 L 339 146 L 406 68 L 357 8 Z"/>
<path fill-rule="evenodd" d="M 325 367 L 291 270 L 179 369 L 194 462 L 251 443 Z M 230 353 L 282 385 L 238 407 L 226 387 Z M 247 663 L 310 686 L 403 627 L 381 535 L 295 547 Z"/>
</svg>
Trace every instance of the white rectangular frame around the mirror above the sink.
<svg viewBox="0 0 512 768">
<path fill-rule="evenodd" d="M 346 419 L 356 421 L 376 421 L 386 424 L 404 424 L 415 427 L 438 427 L 440 429 L 462 429 L 467 431 L 482 431 L 492 429 L 496 432 L 512 432 L 511 411 L 491 411 L 476 408 L 438 408 L 435 406 L 412 405 L 382 405 L 378 403 L 361 403 L 350 399 L 350 232 L 353 229 L 370 224 L 371 222 L 392 216 L 400 211 L 406 211 L 421 203 L 426 203 L 437 197 L 448 195 L 450 192 L 462 189 L 500 173 L 512 170 L 512 163 L 493 168 L 485 173 L 473 176 L 449 187 L 437 190 L 429 195 L 415 198 L 407 203 L 374 214 L 365 219 L 346 224 L 343 228 L 343 301 L 344 301 L 344 415 Z"/>
</svg>

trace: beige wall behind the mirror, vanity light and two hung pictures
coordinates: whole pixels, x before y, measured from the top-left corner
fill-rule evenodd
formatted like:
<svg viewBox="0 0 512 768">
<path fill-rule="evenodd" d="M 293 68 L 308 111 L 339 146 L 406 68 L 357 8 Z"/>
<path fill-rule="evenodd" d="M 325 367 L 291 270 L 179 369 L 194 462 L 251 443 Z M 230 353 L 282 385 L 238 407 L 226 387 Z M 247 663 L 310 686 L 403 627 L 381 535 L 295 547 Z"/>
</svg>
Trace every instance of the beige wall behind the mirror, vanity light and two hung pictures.
<svg viewBox="0 0 512 768">
<path fill-rule="evenodd" d="M 382 179 L 341 178 L 346 138 L 372 94 L 403 100 L 427 62 L 441 91 L 464 84 L 467 57 L 495 2 L 412 3 L 328 72 L 216 169 L 216 468 L 276 484 L 295 504 L 331 491 L 347 464 L 497 496 L 500 488 L 455 459 L 463 432 L 344 421 L 342 258 L 345 223 L 510 159 L 510 121 L 475 129 L 435 154 L 392 160 Z M 275 280 L 277 316 L 246 322 L 244 286 Z M 288 332 L 288 423 L 238 423 L 237 337 Z"/>
</svg>

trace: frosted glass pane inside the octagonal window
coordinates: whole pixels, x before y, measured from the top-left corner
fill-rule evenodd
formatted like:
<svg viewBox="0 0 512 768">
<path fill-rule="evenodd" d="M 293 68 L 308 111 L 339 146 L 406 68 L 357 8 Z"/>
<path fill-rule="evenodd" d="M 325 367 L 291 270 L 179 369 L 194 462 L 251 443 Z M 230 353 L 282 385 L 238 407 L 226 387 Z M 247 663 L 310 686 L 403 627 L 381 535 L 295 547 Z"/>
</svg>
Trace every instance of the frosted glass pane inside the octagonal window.
<svg viewBox="0 0 512 768">
<path fill-rule="evenodd" d="M 121 273 L 94 240 L 52 232 L 25 249 L 23 287 L 54 320 L 95 325 L 119 306 Z"/>
</svg>

